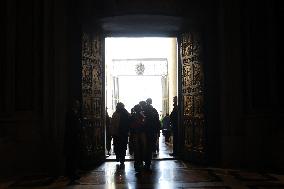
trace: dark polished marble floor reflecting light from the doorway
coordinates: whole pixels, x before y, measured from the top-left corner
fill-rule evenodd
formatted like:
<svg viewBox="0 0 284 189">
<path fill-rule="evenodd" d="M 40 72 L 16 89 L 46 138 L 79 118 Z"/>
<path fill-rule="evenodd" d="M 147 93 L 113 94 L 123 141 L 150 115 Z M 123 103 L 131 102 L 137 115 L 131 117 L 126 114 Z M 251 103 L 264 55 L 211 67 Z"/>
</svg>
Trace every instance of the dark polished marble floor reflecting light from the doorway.
<svg viewBox="0 0 284 189">
<path fill-rule="evenodd" d="M 161 142 L 163 142 L 161 140 Z M 170 145 L 161 144 L 160 157 Z M 169 149 L 168 149 L 169 148 Z M 164 155 L 162 155 L 164 153 Z M 158 156 L 159 157 L 159 156 Z M 111 158 L 97 168 L 80 172 L 81 178 L 69 185 L 66 177 L 34 176 L 0 179 L 1 189 L 284 189 L 284 175 L 246 170 L 197 167 L 173 158 L 155 158 L 152 171 L 137 174 L 131 157 L 120 167 Z"/>
</svg>

